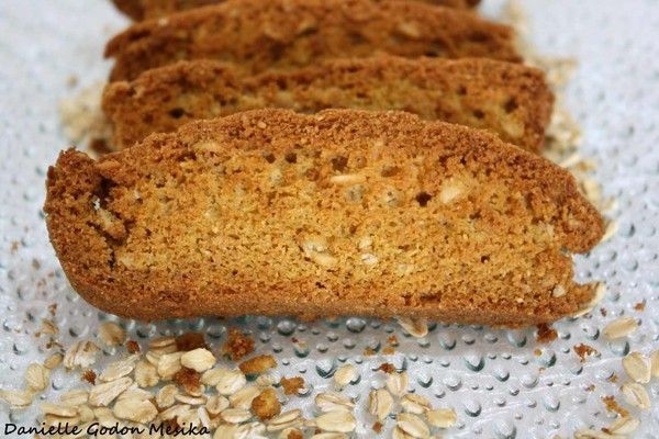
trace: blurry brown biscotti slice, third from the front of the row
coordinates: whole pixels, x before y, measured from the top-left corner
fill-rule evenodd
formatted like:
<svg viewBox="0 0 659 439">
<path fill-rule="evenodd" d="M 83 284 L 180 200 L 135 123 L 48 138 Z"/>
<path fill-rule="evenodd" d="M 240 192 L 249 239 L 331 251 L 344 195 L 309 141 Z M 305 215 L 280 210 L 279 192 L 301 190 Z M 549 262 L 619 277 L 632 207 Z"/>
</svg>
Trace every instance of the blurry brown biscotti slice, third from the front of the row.
<svg viewBox="0 0 659 439">
<path fill-rule="evenodd" d="M 111 80 L 182 59 L 232 61 L 256 74 L 375 53 L 520 60 L 510 27 L 399 0 L 228 0 L 134 24 L 105 47 L 116 59 Z"/>
</svg>

